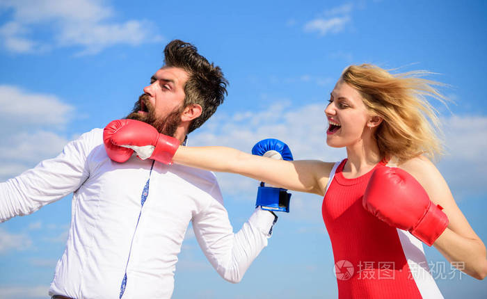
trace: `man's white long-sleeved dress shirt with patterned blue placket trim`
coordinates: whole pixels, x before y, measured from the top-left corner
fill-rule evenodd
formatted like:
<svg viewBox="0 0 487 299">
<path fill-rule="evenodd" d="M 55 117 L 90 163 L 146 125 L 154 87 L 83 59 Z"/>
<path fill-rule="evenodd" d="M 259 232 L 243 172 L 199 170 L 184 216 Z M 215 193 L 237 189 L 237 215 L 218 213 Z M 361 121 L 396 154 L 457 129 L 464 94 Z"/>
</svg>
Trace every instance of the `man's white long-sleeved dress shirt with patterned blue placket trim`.
<svg viewBox="0 0 487 299">
<path fill-rule="evenodd" d="M 119 298 L 127 275 L 122 298 L 170 298 L 190 221 L 211 265 L 239 282 L 267 245 L 274 216 L 256 209 L 234 234 L 213 173 L 136 156 L 115 163 L 102 133 L 93 129 L 56 158 L 0 183 L 1 222 L 73 193 L 66 248 L 49 295 Z"/>
</svg>

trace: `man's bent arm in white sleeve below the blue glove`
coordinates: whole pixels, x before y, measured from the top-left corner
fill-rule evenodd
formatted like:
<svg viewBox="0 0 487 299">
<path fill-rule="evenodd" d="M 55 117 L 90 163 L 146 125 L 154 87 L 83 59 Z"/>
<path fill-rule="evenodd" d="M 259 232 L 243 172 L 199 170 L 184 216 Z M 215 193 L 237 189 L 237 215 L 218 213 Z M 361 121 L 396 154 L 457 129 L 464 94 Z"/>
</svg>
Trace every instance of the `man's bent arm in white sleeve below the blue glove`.
<svg viewBox="0 0 487 299">
<path fill-rule="evenodd" d="M 209 207 L 193 217 L 193 229 L 202 251 L 218 274 L 240 282 L 253 260 L 267 245 L 276 217 L 260 208 L 234 234 L 218 186 Z"/>
</svg>

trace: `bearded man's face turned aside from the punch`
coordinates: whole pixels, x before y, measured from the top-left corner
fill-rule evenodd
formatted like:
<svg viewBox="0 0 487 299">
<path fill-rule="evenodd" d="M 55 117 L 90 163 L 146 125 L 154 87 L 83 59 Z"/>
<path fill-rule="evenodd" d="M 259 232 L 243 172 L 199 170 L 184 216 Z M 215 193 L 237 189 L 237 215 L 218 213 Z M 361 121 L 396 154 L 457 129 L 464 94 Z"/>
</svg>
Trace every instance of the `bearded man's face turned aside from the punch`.
<svg viewBox="0 0 487 299">
<path fill-rule="evenodd" d="M 179 67 L 162 67 L 145 86 L 144 94 L 127 115 L 132 120 L 141 120 L 155 127 L 159 133 L 174 136 L 181 123 L 184 109 L 184 85 L 188 73 Z"/>
</svg>

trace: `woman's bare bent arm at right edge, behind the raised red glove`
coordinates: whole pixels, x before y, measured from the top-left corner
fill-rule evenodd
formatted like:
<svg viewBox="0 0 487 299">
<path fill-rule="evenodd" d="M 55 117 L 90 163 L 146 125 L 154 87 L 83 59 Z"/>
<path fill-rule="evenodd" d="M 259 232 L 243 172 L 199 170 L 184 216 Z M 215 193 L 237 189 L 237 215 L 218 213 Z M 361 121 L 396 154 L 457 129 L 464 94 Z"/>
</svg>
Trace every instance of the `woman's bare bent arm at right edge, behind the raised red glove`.
<svg viewBox="0 0 487 299">
<path fill-rule="evenodd" d="M 428 193 L 431 202 L 440 204 L 449 224 L 433 245 L 449 261 L 468 275 L 483 280 L 487 275 L 486 247 L 475 234 L 462 211 L 456 205 L 447 182 L 438 169 L 424 157 L 411 159 L 399 166 L 413 175 Z M 458 263 L 456 263 L 458 264 Z"/>
</svg>

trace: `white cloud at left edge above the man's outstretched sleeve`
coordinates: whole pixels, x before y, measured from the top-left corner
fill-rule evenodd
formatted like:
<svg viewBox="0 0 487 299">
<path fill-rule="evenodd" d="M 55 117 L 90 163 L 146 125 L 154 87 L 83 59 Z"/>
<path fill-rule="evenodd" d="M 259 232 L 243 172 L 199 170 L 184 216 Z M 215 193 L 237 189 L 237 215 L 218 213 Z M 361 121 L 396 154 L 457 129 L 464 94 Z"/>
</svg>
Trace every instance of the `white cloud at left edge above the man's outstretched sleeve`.
<svg viewBox="0 0 487 299">
<path fill-rule="evenodd" d="M 73 113 L 55 95 L 0 85 L 0 180 L 61 152 L 68 140 L 52 130 L 65 129 Z"/>
</svg>

